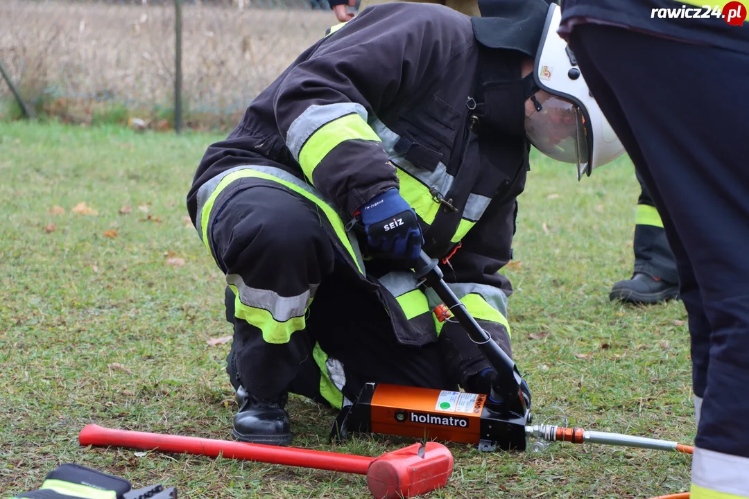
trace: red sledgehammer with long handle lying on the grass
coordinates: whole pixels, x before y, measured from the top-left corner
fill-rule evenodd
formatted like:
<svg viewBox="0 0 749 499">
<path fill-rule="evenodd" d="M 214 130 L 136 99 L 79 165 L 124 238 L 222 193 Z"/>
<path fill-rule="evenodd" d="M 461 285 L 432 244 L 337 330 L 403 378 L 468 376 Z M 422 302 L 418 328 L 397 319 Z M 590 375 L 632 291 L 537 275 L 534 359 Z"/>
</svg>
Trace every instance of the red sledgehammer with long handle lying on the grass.
<svg viewBox="0 0 749 499">
<path fill-rule="evenodd" d="M 197 456 L 223 456 L 227 459 L 366 475 L 369 492 L 376 499 L 413 498 L 440 489 L 452 475 L 453 465 L 449 449 L 437 442 L 427 442 L 426 446 L 413 444 L 372 458 L 213 438 L 132 432 L 95 424 L 85 426 L 78 435 L 78 441 L 84 446 L 130 447 Z"/>
</svg>

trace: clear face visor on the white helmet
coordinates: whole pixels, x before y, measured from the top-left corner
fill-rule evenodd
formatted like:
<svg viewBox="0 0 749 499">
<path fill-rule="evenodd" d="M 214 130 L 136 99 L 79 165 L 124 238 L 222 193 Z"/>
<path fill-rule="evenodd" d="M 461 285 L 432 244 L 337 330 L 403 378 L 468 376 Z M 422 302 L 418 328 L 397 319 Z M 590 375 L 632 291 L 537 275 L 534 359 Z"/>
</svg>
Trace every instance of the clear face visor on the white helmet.
<svg viewBox="0 0 749 499">
<path fill-rule="evenodd" d="M 539 97 L 546 97 L 541 100 Z M 536 102 L 541 111 L 533 110 L 525 119 L 528 140 L 546 156 L 560 162 L 574 163 L 578 171 L 589 159 L 585 118 L 580 106 L 554 95 L 539 92 Z"/>
</svg>

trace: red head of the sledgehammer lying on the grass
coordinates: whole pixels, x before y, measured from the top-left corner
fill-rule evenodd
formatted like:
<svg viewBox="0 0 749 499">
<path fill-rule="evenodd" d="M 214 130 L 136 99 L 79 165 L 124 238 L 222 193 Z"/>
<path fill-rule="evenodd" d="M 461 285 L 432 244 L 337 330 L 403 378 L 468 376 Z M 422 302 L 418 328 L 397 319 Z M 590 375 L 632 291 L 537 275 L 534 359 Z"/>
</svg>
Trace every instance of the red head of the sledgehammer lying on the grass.
<svg viewBox="0 0 749 499">
<path fill-rule="evenodd" d="M 413 444 L 375 458 L 367 485 L 375 499 L 413 498 L 444 487 L 452 465 L 452 453 L 443 444 Z"/>
</svg>

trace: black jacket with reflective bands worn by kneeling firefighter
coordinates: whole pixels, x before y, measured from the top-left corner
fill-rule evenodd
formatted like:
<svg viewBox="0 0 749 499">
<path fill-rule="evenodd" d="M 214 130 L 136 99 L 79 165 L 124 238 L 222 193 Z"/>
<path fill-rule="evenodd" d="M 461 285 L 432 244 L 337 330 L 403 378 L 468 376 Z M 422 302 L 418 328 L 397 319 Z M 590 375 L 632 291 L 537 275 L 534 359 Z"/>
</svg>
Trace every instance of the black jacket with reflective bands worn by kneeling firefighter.
<svg viewBox="0 0 749 499">
<path fill-rule="evenodd" d="M 349 227 L 360 206 L 398 187 L 419 216 L 424 250 L 452 254 L 441 264 L 446 282 L 510 354 L 512 285 L 499 271 L 511 259 L 516 197 L 529 169 L 522 55 L 482 46 L 469 17 L 438 4 L 380 4 L 336 28 L 208 148 L 187 199 L 193 224 L 200 232 L 201 186 L 242 165 L 282 168 Z M 456 322 L 434 318 L 431 290 L 404 286 L 407 273 L 387 270 L 371 260 L 366 280 L 401 343 L 442 334 L 460 352 L 452 356 L 461 379 L 487 366 Z"/>
</svg>

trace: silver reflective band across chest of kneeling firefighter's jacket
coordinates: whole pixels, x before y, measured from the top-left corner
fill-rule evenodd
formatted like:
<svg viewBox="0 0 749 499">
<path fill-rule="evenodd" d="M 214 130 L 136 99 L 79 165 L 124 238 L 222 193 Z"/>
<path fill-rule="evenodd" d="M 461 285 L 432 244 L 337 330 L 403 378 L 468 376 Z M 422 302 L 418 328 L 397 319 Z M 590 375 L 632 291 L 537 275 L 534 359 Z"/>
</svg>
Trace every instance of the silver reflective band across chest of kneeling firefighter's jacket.
<svg viewBox="0 0 749 499">
<path fill-rule="evenodd" d="M 419 168 L 405 159 L 404 154 L 395 152 L 395 144 L 398 144 L 401 139 L 400 135 L 385 126 L 385 123 L 377 117 L 369 120 L 369 126 L 375 130 L 377 136 L 382 140 L 383 149 L 387 153 L 388 159 L 395 166 L 406 171 L 411 177 L 418 179 L 428 188 L 436 190 L 440 195 L 446 195 L 449 192 L 452 183 L 455 182 L 455 177 L 447 173 L 447 168 L 443 162 L 437 163 L 437 168 L 434 168 L 434 171 Z M 491 203 L 491 198 L 488 198 L 488 196 L 471 193 L 463 209 L 463 218 L 469 221 L 478 221 L 489 203 Z"/>
</svg>

